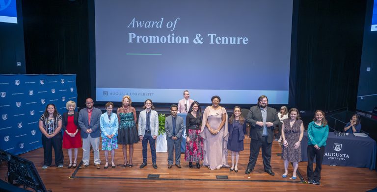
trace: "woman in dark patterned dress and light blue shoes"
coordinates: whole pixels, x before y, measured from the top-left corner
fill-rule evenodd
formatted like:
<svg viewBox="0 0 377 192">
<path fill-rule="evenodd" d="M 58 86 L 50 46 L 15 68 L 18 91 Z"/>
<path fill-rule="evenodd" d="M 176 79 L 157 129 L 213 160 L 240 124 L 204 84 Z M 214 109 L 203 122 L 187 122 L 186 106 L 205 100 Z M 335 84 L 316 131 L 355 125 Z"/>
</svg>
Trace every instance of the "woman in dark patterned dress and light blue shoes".
<svg viewBox="0 0 377 192">
<path fill-rule="evenodd" d="M 293 162 L 292 179 L 296 179 L 296 171 L 298 162 L 301 161 L 301 140 L 304 135 L 304 125 L 300 120 L 300 115 L 296 108 L 289 110 L 288 119 L 283 121 L 281 127 L 281 135 L 283 138 L 283 147 L 281 158 L 284 160 L 284 174 L 283 178 L 288 175 L 288 163 Z"/>
</svg>

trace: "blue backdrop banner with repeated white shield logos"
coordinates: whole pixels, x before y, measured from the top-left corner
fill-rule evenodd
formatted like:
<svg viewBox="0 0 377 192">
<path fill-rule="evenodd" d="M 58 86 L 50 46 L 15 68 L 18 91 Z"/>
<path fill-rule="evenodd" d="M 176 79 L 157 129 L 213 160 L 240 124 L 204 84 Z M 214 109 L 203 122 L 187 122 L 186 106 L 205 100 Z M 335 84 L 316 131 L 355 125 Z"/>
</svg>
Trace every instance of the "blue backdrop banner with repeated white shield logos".
<svg viewBox="0 0 377 192">
<path fill-rule="evenodd" d="M 0 74 L 0 148 L 18 155 L 42 147 L 46 105 L 63 114 L 69 100 L 77 103 L 76 74 Z"/>
</svg>

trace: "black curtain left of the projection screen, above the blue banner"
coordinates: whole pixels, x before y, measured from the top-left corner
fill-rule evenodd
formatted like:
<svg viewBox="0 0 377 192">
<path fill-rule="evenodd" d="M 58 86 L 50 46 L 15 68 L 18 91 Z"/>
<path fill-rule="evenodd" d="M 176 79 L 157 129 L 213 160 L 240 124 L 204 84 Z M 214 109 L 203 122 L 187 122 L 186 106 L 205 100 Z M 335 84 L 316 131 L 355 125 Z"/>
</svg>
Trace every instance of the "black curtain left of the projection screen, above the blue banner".
<svg viewBox="0 0 377 192">
<path fill-rule="evenodd" d="M 90 96 L 86 0 L 23 0 L 28 74 L 77 74 L 78 106 Z"/>
</svg>

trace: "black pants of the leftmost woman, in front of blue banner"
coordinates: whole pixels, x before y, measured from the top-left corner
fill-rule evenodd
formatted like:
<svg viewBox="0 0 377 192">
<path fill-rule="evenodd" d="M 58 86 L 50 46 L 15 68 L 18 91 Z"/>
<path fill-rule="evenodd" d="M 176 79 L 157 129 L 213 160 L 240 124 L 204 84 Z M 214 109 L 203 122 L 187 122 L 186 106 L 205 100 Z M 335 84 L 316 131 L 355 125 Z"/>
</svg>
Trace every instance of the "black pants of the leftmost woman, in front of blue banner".
<svg viewBox="0 0 377 192">
<path fill-rule="evenodd" d="M 63 141 L 60 133 L 56 134 L 50 139 L 42 135 L 44 166 L 51 166 L 53 162 L 53 147 L 55 152 L 55 165 L 63 165 L 64 156 L 63 149 L 61 148 L 62 144 Z"/>
</svg>

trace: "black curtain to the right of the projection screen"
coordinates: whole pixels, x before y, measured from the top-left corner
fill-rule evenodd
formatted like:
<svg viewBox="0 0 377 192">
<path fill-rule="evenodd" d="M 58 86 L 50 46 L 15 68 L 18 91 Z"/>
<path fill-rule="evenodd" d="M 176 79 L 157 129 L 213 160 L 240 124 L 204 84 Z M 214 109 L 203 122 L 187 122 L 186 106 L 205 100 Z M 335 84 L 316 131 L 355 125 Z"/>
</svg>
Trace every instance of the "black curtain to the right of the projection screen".
<svg viewBox="0 0 377 192">
<path fill-rule="evenodd" d="M 299 110 L 356 108 L 365 0 L 299 0 L 296 73 Z"/>
</svg>

